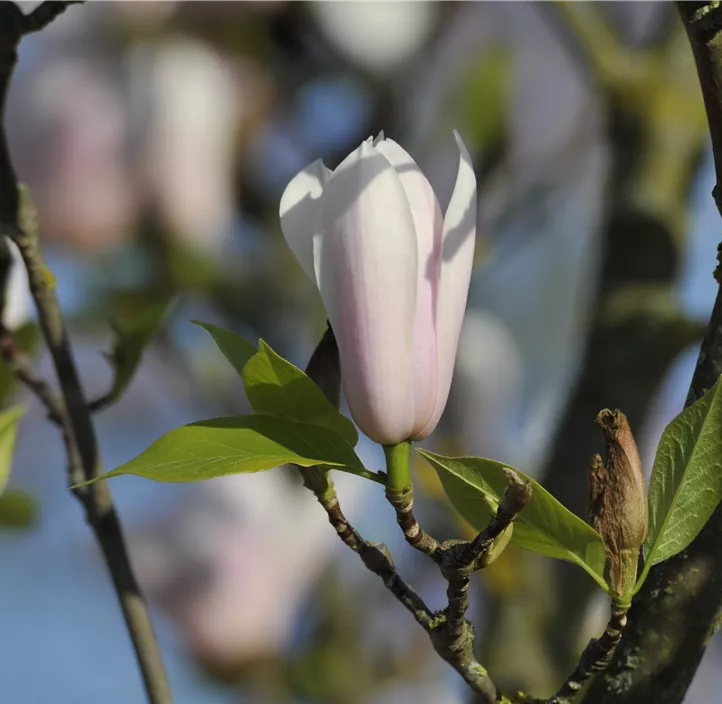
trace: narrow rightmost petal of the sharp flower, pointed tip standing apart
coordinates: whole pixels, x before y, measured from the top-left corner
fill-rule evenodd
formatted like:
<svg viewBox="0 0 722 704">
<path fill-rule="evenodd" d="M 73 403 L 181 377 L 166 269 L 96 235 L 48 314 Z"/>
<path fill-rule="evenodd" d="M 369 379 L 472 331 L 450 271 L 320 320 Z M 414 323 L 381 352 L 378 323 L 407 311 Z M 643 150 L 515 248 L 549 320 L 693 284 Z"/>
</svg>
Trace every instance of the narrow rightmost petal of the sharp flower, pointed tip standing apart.
<svg viewBox="0 0 722 704">
<path fill-rule="evenodd" d="M 449 397 L 476 245 L 477 197 L 474 167 L 469 152 L 456 131 L 454 139 L 459 147 L 459 171 L 444 217 L 441 245 L 436 299 L 436 348 L 439 361 L 436 404 L 431 419 L 418 433 L 417 438 L 424 438 L 434 430 Z"/>
</svg>

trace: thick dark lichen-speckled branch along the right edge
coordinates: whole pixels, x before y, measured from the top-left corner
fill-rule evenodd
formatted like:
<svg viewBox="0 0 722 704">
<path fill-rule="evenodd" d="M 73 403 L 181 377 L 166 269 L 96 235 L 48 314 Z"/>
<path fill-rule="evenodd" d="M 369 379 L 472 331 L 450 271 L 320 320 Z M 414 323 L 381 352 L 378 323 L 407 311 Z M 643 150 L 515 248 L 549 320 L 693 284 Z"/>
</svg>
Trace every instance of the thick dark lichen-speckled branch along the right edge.
<svg viewBox="0 0 722 704">
<path fill-rule="evenodd" d="M 695 57 L 712 137 L 722 213 L 722 6 L 716 0 L 676 0 Z M 720 268 L 715 276 L 721 280 Z M 700 398 L 722 373 L 722 289 L 687 398 Z M 722 509 L 694 542 L 652 568 L 629 612 L 629 623 L 604 677 L 593 683 L 586 704 L 678 704 L 714 635 L 722 608 Z"/>
</svg>

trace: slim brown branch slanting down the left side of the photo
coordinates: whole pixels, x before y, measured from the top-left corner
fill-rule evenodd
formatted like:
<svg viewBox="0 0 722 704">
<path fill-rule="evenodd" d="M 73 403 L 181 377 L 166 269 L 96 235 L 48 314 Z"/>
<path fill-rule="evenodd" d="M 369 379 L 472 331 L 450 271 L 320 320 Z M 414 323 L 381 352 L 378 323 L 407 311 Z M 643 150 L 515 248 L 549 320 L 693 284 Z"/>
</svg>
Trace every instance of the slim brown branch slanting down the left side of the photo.
<svg viewBox="0 0 722 704">
<path fill-rule="evenodd" d="M 29 16 L 23 15 L 10 0 L 0 0 L 0 117 L 4 115 L 7 88 L 17 60 L 22 36 L 51 22 L 71 2 L 46 0 Z M 22 203 L 21 203 L 22 201 Z M 4 129 L 0 129 L 0 235 L 9 236 L 20 250 L 28 272 L 29 286 L 38 310 L 38 319 L 53 360 L 62 404 L 52 403 L 59 417 L 67 451 L 71 485 L 93 479 L 102 473 L 95 429 L 78 377 L 65 322 L 58 306 L 51 277 L 42 260 L 38 226 L 27 193 L 20 197 L 15 171 L 9 157 Z M 5 354 L 12 352 L 7 346 Z M 18 362 L 16 371 L 25 376 L 36 393 L 48 403 L 48 396 L 26 365 Z M 19 366 L 18 366 L 19 365 Z M 123 616 L 133 643 L 145 684 L 148 701 L 171 704 L 160 650 L 145 600 L 133 573 L 123 532 L 105 482 L 75 490 L 88 522 L 100 544 L 111 574 Z"/>
</svg>

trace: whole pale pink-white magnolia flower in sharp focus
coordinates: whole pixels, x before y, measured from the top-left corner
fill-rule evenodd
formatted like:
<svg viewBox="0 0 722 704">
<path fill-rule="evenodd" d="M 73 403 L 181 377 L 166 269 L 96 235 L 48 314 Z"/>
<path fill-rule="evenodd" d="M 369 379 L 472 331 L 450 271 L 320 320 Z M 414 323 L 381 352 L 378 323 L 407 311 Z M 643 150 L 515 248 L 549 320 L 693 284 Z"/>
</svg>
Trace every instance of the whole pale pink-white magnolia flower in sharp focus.
<svg viewBox="0 0 722 704">
<path fill-rule="evenodd" d="M 391 445 L 429 435 L 446 406 L 476 239 L 476 179 L 459 170 L 441 210 L 414 160 L 383 134 L 334 171 L 288 184 L 281 227 L 321 292 L 354 420 Z"/>
</svg>

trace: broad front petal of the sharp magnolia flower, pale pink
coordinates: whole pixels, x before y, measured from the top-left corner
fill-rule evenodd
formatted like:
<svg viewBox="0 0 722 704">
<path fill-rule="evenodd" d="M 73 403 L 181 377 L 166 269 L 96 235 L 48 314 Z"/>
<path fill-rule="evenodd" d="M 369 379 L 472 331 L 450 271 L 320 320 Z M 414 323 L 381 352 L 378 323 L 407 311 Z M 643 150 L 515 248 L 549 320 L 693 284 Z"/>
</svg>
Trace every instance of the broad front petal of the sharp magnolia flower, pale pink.
<svg viewBox="0 0 722 704">
<path fill-rule="evenodd" d="M 336 169 L 322 199 L 316 275 L 336 334 L 343 387 L 372 440 L 408 439 L 416 308 L 416 235 L 404 189 L 364 142 Z"/>
</svg>

